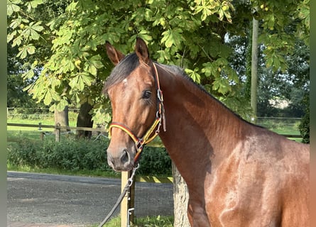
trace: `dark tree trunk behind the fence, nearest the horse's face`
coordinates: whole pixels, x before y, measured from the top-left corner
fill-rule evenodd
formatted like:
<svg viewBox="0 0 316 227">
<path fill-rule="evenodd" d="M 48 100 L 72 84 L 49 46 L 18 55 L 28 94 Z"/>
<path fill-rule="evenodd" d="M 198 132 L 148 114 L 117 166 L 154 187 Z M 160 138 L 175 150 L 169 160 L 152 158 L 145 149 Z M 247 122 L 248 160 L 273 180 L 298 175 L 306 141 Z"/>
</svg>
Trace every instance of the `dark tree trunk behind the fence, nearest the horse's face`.
<svg viewBox="0 0 316 227">
<path fill-rule="evenodd" d="M 93 106 L 85 102 L 80 106 L 79 114 L 77 117 L 77 127 L 87 127 L 92 128 L 93 121 L 92 115 L 89 114 Z M 92 131 L 84 131 L 84 130 L 77 130 L 77 138 L 91 138 Z"/>
</svg>

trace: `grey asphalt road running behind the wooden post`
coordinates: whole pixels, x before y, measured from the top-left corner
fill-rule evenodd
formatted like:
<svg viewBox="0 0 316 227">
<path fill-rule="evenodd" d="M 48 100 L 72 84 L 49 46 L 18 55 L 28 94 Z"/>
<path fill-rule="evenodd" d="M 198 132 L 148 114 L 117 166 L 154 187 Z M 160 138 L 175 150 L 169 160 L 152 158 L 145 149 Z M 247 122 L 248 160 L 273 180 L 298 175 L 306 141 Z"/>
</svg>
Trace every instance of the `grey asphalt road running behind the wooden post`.
<svg viewBox="0 0 316 227">
<path fill-rule="evenodd" d="M 7 173 L 7 221 L 89 226 L 100 223 L 121 192 L 120 179 Z M 173 185 L 136 182 L 135 216 L 172 215 Z M 119 214 L 119 208 L 114 216 Z M 13 226 L 11 224 L 11 226 Z"/>
</svg>

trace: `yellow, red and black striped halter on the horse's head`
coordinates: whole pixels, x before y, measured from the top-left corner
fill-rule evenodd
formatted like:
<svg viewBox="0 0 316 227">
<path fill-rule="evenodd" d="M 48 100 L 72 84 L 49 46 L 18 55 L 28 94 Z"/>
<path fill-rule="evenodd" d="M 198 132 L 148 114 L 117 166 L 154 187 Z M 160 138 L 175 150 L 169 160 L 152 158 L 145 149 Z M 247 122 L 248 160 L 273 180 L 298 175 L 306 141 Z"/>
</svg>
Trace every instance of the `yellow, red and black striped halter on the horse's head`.
<svg viewBox="0 0 316 227">
<path fill-rule="evenodd" d="M 146 133 L 143 135 L 143 137 L 138 138 L 135 133 L 126 126 L 124 123 L 119 122 L 112 122 L 109 126 L 109 138 L 111 138 L 111 128 L 119 128 L 125 133 L 127 133 L 132 140 L 134 140 L 135 147 L 136 147 L 136 155 L 134 157 L 134 163 L 136 163 L 141 155 L 141 152 L 143 151 L 144 145 L 147 143 L 150 143 L 154 138 L 157 137 L 161 121 L 163 121 L 163 130 L 166 131 L 165 128 L 165 109 L 163 107 L 163 92 L 160 90 L 160 84 L 159 84 L 159 77 L 158 77 L 158 71 L 156 68 L 155 63 L 153 63 L 153 68 L 155 69 L 155 81 L 156 81 L 156 87 L 157 87 L 157 112 L 156 112 L 156 119 L 153 121 L 152 125 Z"/>
</svg>

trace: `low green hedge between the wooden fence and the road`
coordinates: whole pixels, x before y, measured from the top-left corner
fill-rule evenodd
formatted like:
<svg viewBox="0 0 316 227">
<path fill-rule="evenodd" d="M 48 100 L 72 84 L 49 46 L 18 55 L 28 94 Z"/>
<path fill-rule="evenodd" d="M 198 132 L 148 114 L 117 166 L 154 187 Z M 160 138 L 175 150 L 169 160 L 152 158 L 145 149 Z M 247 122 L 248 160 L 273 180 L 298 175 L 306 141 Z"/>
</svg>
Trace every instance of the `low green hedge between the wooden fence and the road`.
<svg viewBox="0 0 316 227">
<path fill-rule="evenodd" d="M 56 168 L 61 170 L 113 171 L 107 165 L 107 140 L 69 138 L 56 143 L 54 140 L 34 141 L 18 138 L 8 147 L 8 162 L 16 166 Z M 139 174 L 171 175 L 171 160 L 165 148 L 146 147 L 140 160 Z"/>
</svg>

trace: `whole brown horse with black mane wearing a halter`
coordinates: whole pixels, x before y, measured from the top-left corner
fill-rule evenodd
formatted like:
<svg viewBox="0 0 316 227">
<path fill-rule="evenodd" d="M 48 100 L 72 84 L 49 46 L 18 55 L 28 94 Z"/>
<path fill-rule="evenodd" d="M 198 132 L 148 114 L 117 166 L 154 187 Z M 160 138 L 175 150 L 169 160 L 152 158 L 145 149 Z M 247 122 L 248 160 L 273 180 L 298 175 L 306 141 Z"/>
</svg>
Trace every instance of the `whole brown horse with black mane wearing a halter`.
<svg viewBox="0 0 316 227">
<path fill-rule="evenodd" d="M 107 43 L 107 54 L 114 170 L 131 170 L 160 131 L 187 183 L 191 226 L 310 226 L 309 145 L 242 120 L 178 67 L 153 62 L 140 38 L 135 53 Z"/>
</svg>

